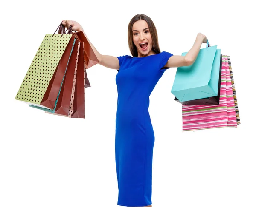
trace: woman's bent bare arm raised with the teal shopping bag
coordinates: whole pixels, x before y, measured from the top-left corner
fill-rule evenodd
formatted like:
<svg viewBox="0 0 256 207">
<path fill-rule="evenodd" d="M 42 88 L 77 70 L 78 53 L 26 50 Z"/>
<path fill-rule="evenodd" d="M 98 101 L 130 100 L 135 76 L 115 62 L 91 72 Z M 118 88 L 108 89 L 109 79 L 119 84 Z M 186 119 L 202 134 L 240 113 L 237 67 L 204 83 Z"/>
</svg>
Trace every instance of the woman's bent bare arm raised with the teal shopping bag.
<svg viewBox="0 0 256 207">
<path fill-rule="evenodd" d="M 198 56 L 202 43 L 207 43 L 207 38 L 205 35 L 198 33 L 195 39 L 195 43 L 192 46 L 192 48 L 188 51 L 188 53 L 185 56 L 173 55 L 169 58 L 165 67 L 176 68 L 192 65 Z"/>
</svg>

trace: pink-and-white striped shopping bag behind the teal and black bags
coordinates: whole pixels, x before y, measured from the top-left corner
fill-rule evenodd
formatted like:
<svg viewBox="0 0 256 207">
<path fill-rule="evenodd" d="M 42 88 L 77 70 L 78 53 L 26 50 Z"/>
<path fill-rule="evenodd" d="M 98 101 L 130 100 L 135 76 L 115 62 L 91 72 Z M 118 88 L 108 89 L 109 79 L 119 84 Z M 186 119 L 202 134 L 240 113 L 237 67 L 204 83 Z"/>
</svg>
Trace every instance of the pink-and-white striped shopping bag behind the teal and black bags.
<svg viewBox="0 0 256 207">
<path fill-rule="evenodd" d="M 235 109 L 235 85 L 230 76 L 230 60 L 222 55 L 221 91 L 219 105 L 182 105 L 183 131 L 220 127 L 237 127 L 239 117 Z M 237 101 L 236 101 L 237 102 Z M 240 120 L 239 120 L 240 123 Z"/>
</svg>

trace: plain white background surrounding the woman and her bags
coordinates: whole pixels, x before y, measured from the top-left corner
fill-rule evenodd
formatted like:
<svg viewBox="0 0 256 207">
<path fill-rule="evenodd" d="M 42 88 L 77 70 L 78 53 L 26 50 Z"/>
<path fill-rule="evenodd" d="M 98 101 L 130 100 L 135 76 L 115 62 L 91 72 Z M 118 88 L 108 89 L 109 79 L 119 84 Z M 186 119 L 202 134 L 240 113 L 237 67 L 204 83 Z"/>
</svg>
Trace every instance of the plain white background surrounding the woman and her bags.
<svg viewBox="0 0 256 207">
<path fill-rule="evenodd" d="M 181 105 L 171 93 L 177 68 L 150 96 L 155 133 L 153 207 L 255 207 L 255 20 L 239 1 L 7 1 L 1 3 L 1 207 L 114 207 L 117 71 L 87 70 L 86 118 L 46 114 L 15 100 L 45 34 L 62 20 L 81 24 L 101 54 L 122 56 L 128 23 L 146 14 L 161 51 L 189 51 L 198 32 L 230 56 L 241 125 L 182 132 Z M 202 48 L 206 45 L 203 44 Z"/>
</svg>

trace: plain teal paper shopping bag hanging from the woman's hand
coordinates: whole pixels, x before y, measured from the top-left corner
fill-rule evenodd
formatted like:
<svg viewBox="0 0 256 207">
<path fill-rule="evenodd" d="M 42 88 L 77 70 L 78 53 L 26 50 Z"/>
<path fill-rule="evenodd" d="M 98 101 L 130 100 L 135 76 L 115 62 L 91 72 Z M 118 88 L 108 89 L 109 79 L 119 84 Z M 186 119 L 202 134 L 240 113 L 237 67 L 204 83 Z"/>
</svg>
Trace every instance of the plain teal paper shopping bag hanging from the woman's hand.
<svg viewBox="0 0 256 207">
<path fill-rule="evenodd" d="M 184 52 L 182 56 L 186 54 Z M 207 42 L 192 65 L 177 68 L 172 94 L 180 102 L 218 96 L 220 61 L 221 49 Z"/>
</svg>

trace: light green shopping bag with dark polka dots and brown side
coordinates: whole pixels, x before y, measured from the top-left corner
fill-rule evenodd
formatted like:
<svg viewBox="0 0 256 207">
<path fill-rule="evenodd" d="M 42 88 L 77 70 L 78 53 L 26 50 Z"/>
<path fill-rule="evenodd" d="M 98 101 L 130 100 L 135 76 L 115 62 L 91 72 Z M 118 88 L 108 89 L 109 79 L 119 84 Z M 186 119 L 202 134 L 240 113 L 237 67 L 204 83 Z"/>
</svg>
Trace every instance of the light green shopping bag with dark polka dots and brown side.
<svg viewBox="0 0 256 207">
<path fill-rule="evenodd" d="M 15 99 L 53 109 L 74 41 L 72 34 L 46 34 Z"/>
</svg>

